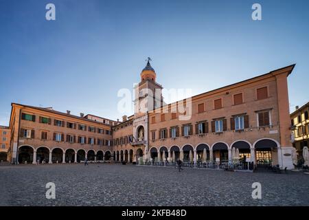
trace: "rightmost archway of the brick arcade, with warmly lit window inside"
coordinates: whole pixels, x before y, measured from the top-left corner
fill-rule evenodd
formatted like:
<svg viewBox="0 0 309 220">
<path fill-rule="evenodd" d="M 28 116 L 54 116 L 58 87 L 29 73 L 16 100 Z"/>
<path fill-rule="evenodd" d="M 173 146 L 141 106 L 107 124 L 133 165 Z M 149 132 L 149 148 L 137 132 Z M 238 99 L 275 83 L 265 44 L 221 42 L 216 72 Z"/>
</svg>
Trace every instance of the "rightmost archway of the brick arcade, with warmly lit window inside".
<svg viewBox="0 0 309 220">
<path fill-rule="evenodd" d="M 271 164 L 277 164 L 277 148 L 278 144 L 271 139 L 258 140 L 254 144 L 255 148 L 255 160 L 257 166 L 269 166 Z"/>
</svg>

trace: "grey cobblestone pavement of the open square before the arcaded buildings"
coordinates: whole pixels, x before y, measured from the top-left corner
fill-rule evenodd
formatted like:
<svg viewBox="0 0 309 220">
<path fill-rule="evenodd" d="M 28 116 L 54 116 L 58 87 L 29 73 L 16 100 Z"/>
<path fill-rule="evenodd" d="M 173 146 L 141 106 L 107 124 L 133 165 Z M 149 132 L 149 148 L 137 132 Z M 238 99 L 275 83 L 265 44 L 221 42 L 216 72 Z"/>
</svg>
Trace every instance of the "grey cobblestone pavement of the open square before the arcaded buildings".
<svg viewBox="0 0 309 220">
<path fill-rule="evenodd" d="M 45 184 L 56 184 L 46 199 Z M 253 182 L 262 199 L 252 199 Z M 0 166 L 0 206 L 309 206 L 309 175 L 121 164 Z"/>
</svg>

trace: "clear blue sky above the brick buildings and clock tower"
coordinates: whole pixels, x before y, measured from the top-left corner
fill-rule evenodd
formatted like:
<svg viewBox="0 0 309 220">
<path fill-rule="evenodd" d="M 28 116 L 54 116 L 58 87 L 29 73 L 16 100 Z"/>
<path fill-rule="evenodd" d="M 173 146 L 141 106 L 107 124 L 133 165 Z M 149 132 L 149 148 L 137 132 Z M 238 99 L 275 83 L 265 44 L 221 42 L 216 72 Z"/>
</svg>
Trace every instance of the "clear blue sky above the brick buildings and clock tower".
<svg viewBox="0 0 309 220">
<path fill-rule="evenodd" d="M 54 3 L 56 21 L 45 6 Z M 262 21 L 253 21 L 253 3 Z M 146 58 L 192 95 L 296 63 L 290 111 L 309 100 L 309 1 L 0 0 L 0 124 L 11 102 L 116 120 Z M 132 111 L 133 113 L 133 111 Z"/>
</svg>

